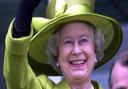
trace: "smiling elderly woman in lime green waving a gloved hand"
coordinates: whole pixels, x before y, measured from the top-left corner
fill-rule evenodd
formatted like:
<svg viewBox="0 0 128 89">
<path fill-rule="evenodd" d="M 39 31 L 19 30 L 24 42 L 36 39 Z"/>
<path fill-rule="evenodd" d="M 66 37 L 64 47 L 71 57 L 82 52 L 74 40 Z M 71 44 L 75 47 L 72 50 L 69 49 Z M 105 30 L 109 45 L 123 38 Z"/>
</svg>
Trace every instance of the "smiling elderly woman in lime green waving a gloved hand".
<svg viewBox="0 0 128 89">
<path fill-rule="evenodd" d="M 122 32 L 118 22 L 93 13 L 94 0 L 51 1 L 49 19 L 32 18 L 39 2 L 21 0 L 9 27 L 4 62 L 7 88 L 103 89 L 91 75 L 94 67 L 105 64 L 119 48 Z M 34 36 L 32 29 L 37 31 Z M 37 65 L 30 66 L 32 62 Z M 33 72 L 39 64 L 44 69 L 40 75 Z M 58 84 L 47 78 L 54 71 L 64 76 Z"/>
</svg>

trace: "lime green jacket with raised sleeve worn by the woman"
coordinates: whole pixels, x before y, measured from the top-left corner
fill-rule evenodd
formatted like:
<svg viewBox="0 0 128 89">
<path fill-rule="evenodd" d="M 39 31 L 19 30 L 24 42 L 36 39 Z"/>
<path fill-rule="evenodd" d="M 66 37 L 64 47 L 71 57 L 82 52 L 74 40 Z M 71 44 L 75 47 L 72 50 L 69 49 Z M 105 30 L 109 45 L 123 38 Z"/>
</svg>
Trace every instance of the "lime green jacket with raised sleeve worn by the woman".
<svg viewBox="0 0 128 89">
<path fill-rule="evenodd" d="M 6 36 L 4 59 L 4 77 L 7 89 L 70 89 L 66 80 L 55 84 L 46 75 L 36 76 L 27 61 L 27 53 L 33 32 L 27 37 L 13 38 L 13 22 Z M 92 82 L 95 89 L 103 89 L 97 82 Z"/>
</svg>

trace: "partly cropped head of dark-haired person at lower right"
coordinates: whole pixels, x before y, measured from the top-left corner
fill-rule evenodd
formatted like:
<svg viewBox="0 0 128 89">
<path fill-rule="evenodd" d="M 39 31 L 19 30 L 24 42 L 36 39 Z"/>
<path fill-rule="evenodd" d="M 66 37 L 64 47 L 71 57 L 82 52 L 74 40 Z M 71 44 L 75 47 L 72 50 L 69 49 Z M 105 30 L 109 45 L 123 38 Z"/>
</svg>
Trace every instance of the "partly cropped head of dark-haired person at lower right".
<svg viewBox="0 0 128 89">
<path fill-rule="evenodd" d="M 110 89 L 128 89 L 128 51 L 120 53 L 109 75 Z"/>
</svg>

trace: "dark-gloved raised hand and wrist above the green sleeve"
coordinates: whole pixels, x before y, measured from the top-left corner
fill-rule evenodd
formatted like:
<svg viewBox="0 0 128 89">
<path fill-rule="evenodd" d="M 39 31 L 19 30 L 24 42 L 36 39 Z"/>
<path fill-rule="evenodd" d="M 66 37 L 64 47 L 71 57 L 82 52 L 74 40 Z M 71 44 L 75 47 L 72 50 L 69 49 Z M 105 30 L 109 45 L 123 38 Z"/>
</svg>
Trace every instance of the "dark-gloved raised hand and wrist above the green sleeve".
<svg viewBox="0 0 128 89">
<path fill-rule="evenodd" d="M 13 37 L 19 38 L 28 36 L 34 9 L 41 0 L 20 0 L 19 8 L 14 20 Z"/>
</svg>

